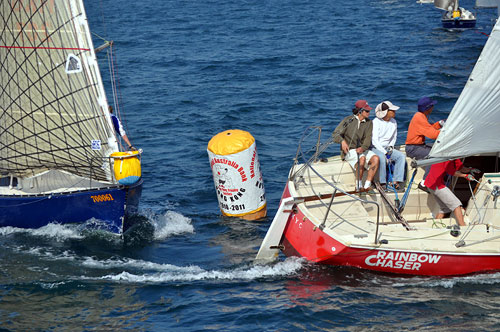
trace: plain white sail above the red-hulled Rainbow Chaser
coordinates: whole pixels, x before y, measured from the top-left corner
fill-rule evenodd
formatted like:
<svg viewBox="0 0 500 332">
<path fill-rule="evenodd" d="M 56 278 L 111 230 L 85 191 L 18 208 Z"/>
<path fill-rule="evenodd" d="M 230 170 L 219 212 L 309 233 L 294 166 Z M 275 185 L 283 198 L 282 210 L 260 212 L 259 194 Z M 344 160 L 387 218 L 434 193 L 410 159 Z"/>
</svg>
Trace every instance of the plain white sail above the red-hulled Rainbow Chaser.
<svg viewBox="0 0 500 332">
<path fill-rule="evenodd" d="M 429 157 L 455 159 L 499 151 L 500 20 L 494 26 Z"/>
</svg>

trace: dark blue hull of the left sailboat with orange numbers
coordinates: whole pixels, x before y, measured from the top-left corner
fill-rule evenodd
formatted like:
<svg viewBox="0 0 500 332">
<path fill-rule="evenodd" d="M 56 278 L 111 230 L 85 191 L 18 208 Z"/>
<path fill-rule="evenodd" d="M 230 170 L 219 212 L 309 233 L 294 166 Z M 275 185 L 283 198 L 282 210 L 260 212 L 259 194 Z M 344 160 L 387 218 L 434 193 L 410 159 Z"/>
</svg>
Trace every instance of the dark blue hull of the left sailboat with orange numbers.
<svg viewBox="0 0 500 332">
<path fill-rule="evenodd" d="M 87 223 L 93 229 L 123 234 L 137 213 L 142 179 L 115 186 L 51 195 L 0 196 L 0 227 L 39 228 L 49 223 Z"/>
</svg>

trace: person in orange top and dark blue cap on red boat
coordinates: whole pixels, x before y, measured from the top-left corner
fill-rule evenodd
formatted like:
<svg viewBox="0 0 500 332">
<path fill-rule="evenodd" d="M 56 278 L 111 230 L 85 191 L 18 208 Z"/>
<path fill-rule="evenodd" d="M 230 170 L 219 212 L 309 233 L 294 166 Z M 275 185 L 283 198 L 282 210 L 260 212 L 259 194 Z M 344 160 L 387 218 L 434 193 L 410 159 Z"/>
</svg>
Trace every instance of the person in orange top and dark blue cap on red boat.
<svg viewBox="0 0 500 332">
<path fill-rule="evenodd" d="M 432 149 L 432 144 L 425 144 L 425 138 L 436 139 L 439 135 L 439 130 L 444 124 L 444 121 L 438 121 L 434 124 L 429 123 L 429 115 L 434 110 L 434 105 L 437 101 L 429 97 L 422 97 L 418 101 L 418 112 L 413 115 L 408 126 L 408 134 L 406 136 L 406 155 L 416 160 L 424 159 L 429 155 Z M 422 182 L 419 183 L 418 188 L 428 191 L 425 188 L 424 180 L 429 173 L 430 167 L 425 168 L 424 177 Z"/>
</svg>

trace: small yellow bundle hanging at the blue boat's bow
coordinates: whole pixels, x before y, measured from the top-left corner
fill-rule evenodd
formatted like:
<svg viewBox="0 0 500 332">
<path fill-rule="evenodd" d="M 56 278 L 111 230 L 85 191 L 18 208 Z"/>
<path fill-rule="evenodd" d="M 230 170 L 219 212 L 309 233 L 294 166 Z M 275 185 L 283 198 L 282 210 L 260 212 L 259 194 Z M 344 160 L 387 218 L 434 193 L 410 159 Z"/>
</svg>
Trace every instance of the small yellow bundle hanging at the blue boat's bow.
<svg viewBox="0 0 500 332">
<path fill-rule="evenodd" d="M 114 152 L 111 158 L 114 160 L 113 170 L 115 179 L 123 185 L 131 185 L 141 178 L 141 161 L 139 151 Z"/>
</svg>

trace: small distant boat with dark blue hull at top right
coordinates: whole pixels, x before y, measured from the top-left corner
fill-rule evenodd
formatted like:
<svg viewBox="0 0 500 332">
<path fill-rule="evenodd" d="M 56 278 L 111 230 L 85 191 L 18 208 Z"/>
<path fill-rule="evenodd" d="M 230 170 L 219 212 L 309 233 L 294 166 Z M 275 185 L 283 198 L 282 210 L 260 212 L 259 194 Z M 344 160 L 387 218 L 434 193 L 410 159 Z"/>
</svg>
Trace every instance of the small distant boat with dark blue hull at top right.
<svg viewBox="0 0 500 332">
<path fill-rule="evenodd" d="M 434 0 L 436 8 L 445 10 L 441 23 L 445 29 L 470 29 L 476 26 L 476 16 L 459 7 L 458 0 Z"/>
</svg>

